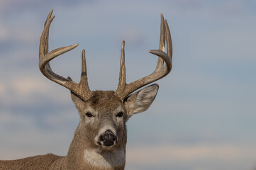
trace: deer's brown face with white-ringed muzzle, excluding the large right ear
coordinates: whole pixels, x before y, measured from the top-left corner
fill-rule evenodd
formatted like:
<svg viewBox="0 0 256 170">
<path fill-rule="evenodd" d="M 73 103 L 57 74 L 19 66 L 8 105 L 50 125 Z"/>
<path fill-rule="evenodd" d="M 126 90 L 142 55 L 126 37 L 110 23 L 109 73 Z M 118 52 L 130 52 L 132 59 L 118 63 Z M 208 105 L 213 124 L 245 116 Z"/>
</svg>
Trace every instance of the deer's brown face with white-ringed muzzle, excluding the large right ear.
<svg viewBox="0 0 256 170">
<path fill-rule="evenodd" d="M 94 91 L 87 101 L 72 94 L 80 115 L 79 130 L 91 147 L 109 149 L 123 143 L 126 133 L 126 108 L 113 91 Z"/>
</svg>

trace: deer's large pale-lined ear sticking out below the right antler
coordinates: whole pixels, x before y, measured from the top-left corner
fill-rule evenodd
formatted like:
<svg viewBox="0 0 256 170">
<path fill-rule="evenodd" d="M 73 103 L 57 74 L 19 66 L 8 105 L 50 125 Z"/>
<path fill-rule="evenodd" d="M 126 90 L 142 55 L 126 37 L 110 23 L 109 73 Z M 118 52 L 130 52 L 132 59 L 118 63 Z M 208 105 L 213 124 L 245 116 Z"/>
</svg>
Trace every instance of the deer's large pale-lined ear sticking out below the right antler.
<svg viewBox="0 0 256 170">
<path fill-rule="evenodd" d="M 126 98 L 125 106 L 128 118 L 135 113 L 146 111 L 157 96 L 158 84 L 152 84 Z"/>
</svg>

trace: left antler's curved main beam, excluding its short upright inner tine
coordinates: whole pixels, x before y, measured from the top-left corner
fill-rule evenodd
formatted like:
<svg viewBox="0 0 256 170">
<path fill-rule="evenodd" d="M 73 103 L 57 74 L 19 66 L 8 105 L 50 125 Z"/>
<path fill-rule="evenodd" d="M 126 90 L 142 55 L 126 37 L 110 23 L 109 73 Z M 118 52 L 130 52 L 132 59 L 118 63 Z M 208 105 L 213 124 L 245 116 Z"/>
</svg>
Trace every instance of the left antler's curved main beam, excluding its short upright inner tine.
<svg viewBox="0 0 256 170">
<path fill-rule="evenodd" d="M 48 79 L 55 81 L 57 84 L 65 86 L 67 89 L 72 91 L 74 94 L 77 94 L 83 100 L 87 100 L 89 98 L 88 94 L 84 94 L 82 88 L 76 82 L 72 81 L 71 78 L 65 79 L 58 74 L 52 72 L 50 68 L 50 60 L 54 59 L 55 57 L 62 55 L 69 50 L 73 50 L 78 44 L 70 45 L 67 47 L 60 47 L 55 50 L 52 50 L 48 53 L 48 38 L 49 38 L 49 28 L 50 24 L 52 23 L 53 18 L 52 11 L 48 14 L 48 17 L 45 21 L 45 27 L 43 29 L 42 36 L 40 37 L 40 46 L 39 46 L 39 68 L 40 71 L 43 73 L 45 77 Z M 90 94 L 90 93 L 89 93 Z"/>
</svg>

